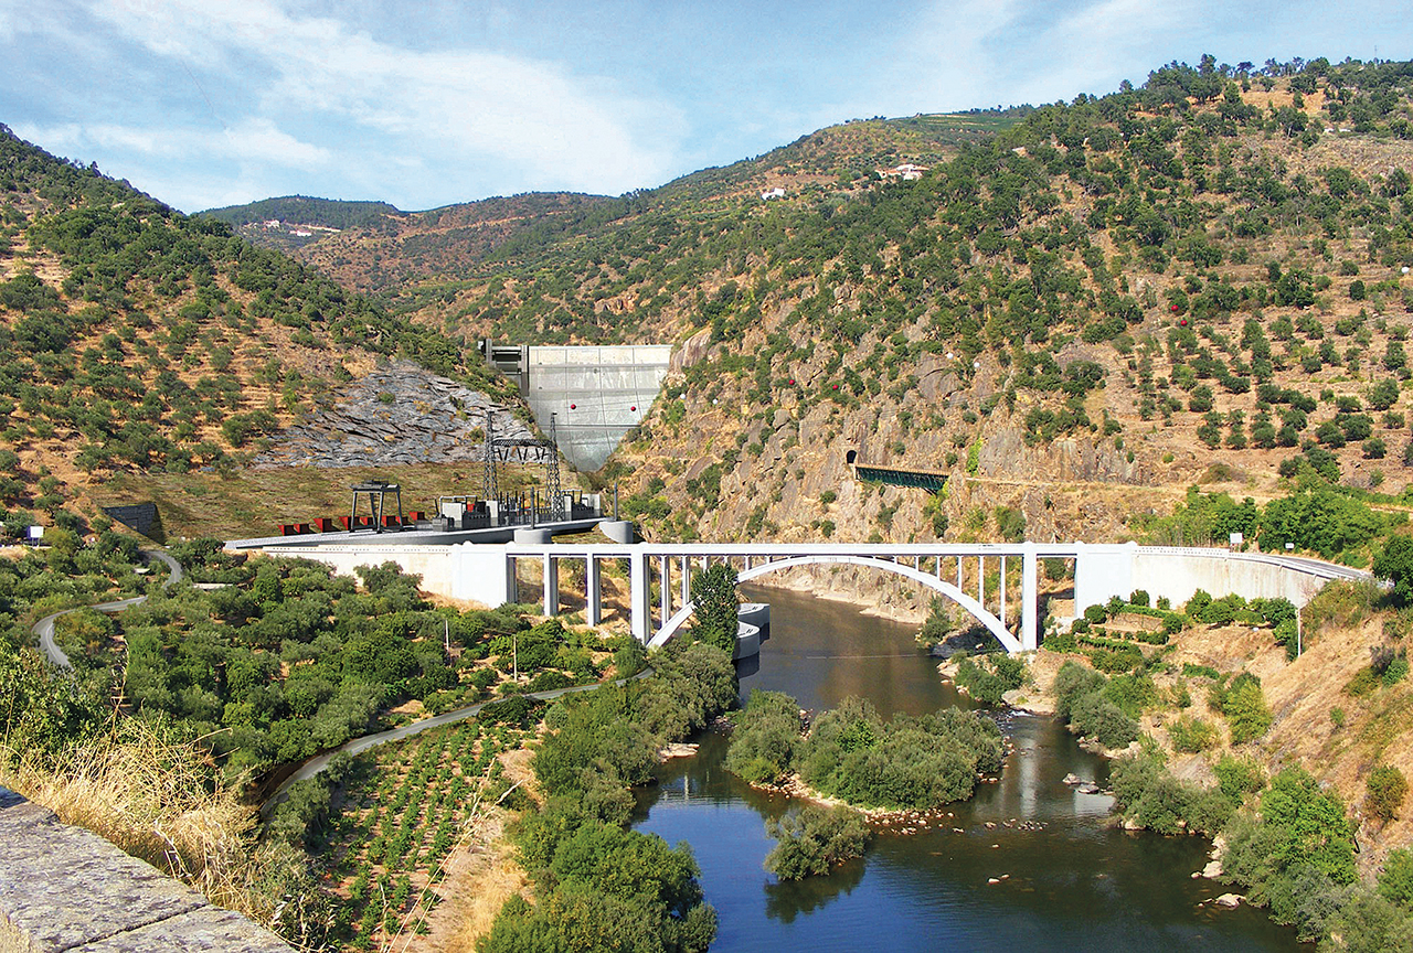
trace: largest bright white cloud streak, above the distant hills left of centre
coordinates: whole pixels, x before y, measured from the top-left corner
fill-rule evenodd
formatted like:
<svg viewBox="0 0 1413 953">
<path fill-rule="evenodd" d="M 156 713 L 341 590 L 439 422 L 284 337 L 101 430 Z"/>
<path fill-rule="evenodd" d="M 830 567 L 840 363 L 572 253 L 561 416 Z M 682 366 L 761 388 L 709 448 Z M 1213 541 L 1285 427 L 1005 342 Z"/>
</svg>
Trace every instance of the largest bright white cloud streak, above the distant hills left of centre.
<svg viewBox="0 0 1413 953">
<path fill-rule="evenodd" d="M 372 172 L 384 165 L 376 154 L 406 150 L 432 167 L 497 165 L 521 189 L 626 191 L 667 174 L 684 130 L 674 107 L 558 64 L 394 47 L 270 0 L 95 0 L 93 13 L 151 52 L 252 93 L 259 116 L 232 133 L 249 160 L 263 151 L 308 168 L 338 152 Z M 219 114 L 226 103 L 216 100 Z M 333 128 L 318 145 L 281 140 L 274 121 L 294 116 Z M 341 145 L 359 128 L 374 137 L 366 152 Z M 394 186 L 406 195 L 406 182 L 383 182 Z"/>
</svg>

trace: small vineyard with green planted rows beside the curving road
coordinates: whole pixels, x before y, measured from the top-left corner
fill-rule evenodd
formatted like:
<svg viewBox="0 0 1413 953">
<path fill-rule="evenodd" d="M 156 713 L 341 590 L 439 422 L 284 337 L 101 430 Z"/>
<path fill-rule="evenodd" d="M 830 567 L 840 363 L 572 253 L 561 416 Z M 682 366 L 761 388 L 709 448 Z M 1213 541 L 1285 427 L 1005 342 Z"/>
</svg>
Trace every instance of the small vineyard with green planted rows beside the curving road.
<svg viewBox="0 0 1413 953">
<path fill-rule="evenodd" d="M 497 755 L 526 734 L 473 719 L 355 762 L 321 856 L 349 947 L 401 950 L 427 930 L 448 854 L 513 786 Z"/>
</svg>

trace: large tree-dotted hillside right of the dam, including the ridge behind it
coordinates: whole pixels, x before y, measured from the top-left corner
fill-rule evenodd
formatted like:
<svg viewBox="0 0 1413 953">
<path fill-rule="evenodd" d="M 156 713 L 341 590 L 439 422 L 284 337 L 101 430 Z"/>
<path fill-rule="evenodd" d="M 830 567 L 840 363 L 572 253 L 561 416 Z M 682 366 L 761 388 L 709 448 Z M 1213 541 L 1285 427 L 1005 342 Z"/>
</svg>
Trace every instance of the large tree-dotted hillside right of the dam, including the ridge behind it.
<svg viewBox="0 0 1413 953">
<path fill-rule="evenodd" d="M 458 206 L 479 243 L 442 210 L 301 256 L 438 329 L 684 343 L 603 474 L 666 538 L 1202 542 L 1164 522 L 1194 483 L 1402 505 L 1410 76 L 1171 64 L 986 136 L 846 123 L 617 199 Z"/>
</svg>

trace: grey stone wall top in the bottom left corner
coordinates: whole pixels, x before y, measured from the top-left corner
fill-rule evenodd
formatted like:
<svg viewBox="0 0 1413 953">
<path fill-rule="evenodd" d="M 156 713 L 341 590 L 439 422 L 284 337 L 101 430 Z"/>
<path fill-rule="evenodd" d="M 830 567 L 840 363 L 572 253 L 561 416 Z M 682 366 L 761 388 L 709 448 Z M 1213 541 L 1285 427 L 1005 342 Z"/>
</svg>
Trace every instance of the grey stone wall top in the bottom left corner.
<svg viewBox="0 0 1413 953">
<path fill-rule="evenodd" d="M 0 788 L 0 953 L 292 953 L 278 936 Z"/>
</svg>

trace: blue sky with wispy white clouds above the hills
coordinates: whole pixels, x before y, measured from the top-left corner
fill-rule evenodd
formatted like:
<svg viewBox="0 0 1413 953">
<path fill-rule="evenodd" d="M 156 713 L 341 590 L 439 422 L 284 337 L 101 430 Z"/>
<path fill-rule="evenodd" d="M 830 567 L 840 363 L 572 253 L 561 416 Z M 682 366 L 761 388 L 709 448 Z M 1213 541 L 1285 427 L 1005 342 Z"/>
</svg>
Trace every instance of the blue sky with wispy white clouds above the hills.
<svg viewBox="0 0 1413 953">
<path fill-rule="evenodd" d="M 1204 52 L 1413 58 L 1406 1 L 0 0 L 0 123 L 184 210 L 619 195 Z"/>
</svg>

